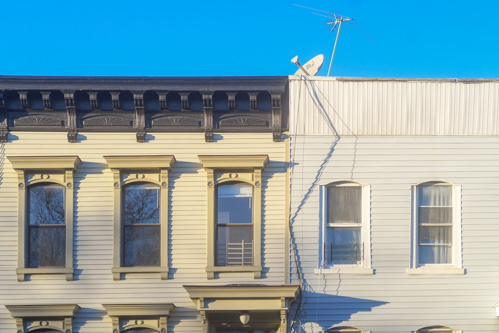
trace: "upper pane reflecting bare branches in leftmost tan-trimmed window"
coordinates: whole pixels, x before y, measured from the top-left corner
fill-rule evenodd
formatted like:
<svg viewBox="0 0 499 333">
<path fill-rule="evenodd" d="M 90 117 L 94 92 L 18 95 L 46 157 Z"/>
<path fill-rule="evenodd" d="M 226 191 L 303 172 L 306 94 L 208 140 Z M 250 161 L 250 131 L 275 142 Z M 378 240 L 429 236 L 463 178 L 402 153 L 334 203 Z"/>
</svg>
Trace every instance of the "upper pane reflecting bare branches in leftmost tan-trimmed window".
<svg viewBox="0 0 499 333">
<path fill-rule="evenodd" d="M 28 187 L 29 225 L 65 224 L 64 186 L 38 184 Z"/>
</svg>

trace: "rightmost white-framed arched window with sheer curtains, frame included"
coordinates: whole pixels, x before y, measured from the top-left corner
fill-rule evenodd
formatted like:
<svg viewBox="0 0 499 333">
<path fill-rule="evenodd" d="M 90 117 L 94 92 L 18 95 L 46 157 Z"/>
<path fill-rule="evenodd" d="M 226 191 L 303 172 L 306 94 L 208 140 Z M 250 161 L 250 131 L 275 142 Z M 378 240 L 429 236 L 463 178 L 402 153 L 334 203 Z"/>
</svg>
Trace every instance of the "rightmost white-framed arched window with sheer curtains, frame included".
<svg viewBox="0 0 499 333">
<path fill-rule="evenodd" d="M 439 273 L 461 264 L 460 186 L 427 182 L 413 187 L 413 257 L 409 273 Z M 432 268 L 433 271 L 432 271 Z M 461 270 L 441 270 L 441 273 Z"/>
</svg>

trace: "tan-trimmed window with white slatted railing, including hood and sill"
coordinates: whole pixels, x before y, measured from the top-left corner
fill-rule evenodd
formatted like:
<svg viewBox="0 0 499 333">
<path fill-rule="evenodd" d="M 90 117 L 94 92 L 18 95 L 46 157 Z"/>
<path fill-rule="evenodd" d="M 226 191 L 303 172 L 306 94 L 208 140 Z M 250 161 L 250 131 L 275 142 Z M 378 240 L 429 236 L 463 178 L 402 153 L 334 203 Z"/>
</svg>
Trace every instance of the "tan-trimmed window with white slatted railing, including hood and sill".
<svg viewBox="0 0 499 333">
<path fill-rule="evenodd" d="M 207 277 L 261 277 L 261 184 L 267 155 L 200 155 L 207 174 Z"/>
</svg>

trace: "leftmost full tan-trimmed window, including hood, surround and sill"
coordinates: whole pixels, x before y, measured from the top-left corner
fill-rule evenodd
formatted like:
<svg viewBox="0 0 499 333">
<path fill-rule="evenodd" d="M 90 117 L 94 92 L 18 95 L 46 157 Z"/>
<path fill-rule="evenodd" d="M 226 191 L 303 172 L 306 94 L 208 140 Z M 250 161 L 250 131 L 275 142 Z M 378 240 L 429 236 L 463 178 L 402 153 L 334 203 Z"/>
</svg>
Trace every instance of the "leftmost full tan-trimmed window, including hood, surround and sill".
<svg viewBox="0 0 499 333">
<path fill-rule="evenodd" d="M 73 280 L 73 174 L 78 156 L 11 156 L 17 172 L 17 280 L 64 274 Z"/>
</svg>

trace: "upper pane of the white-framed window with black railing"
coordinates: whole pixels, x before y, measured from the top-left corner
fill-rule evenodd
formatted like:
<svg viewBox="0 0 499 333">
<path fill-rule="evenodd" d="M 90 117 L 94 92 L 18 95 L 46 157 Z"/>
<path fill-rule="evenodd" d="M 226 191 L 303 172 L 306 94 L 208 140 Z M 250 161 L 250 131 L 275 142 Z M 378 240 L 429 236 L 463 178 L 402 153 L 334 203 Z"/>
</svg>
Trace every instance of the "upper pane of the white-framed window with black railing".
<svg viewBox="0 0 499 333">
<path fill-rule="evenodd" d="M 327 188 L 327 223 L 361 223 L 360 186 Z"/>
</svg>

